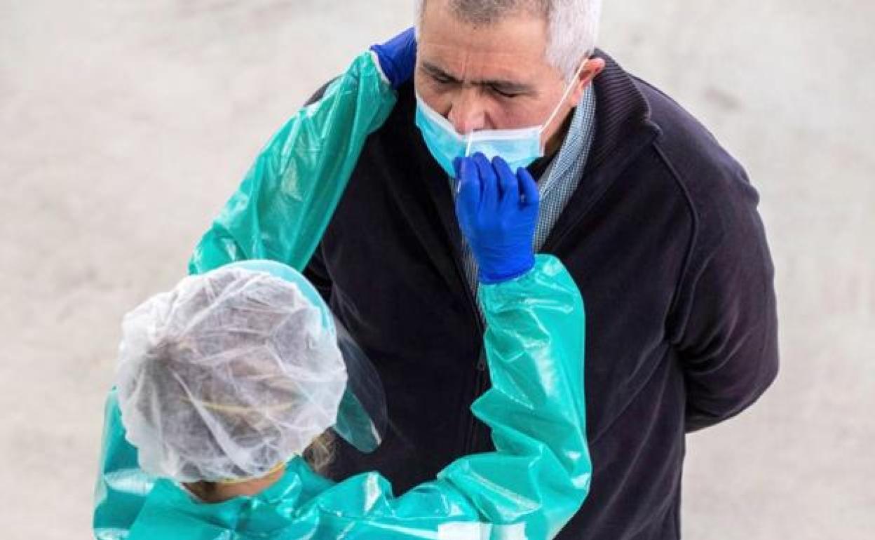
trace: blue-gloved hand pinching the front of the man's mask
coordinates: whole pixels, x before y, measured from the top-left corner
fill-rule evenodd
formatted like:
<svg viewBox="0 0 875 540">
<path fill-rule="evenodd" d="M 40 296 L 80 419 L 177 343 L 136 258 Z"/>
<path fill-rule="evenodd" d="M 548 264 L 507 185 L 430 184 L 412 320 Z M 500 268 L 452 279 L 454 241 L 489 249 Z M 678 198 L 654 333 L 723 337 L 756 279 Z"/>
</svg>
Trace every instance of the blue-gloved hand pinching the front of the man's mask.
<svg viewBox="0 0 875 540">
<path fill-rule="evenodd" d="M 499 157 L 481 153 L 456 158 L 456 215 L 479 264 L 479 280 L 494 284 L 535 266 L 533 243 L 540 196 L 535 179 L 520 167 L 511 172 Z"/>
</svg>

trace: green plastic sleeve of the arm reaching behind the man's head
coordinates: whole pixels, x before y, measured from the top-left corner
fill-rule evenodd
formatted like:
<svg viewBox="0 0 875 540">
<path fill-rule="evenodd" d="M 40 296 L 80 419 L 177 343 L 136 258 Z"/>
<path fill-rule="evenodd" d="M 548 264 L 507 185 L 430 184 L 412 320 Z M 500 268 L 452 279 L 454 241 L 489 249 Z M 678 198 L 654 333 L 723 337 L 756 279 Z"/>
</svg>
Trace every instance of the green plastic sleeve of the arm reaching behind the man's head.
<svg viewBox="0 0 875 540">
<path fill-rule="evenodd" d="M 194 249 L 190 273 L 244 259 L 304 267 L 367 136 L 395 105 L 395 91 L 377 56 L 361 54 L 321 99 L 301 109 L 269 141 Z"/>
</svg>

